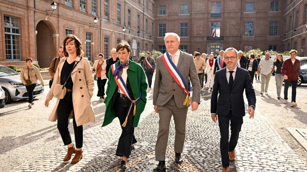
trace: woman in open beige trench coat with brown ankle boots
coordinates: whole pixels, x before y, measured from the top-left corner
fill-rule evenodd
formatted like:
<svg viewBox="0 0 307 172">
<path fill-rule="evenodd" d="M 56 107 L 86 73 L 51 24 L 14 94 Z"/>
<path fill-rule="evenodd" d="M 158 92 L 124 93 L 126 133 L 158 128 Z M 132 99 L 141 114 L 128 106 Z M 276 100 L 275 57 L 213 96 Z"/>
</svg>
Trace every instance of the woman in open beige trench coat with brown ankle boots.
<svg viewBox="0 0 307 172">
<path fill-rule="evenodd" d="M 49 101 L 53 98 L 53 90 L 56 84 L 64 85 L 67 80 L 66 94 L 63 99 L 56 101 L 49 121 L 57 120 L 57 128 L 60 132 L 64 145 L 68 146 L 67 154 L 64 158 L 69 161 L 73 153 L 75 157 L 71 163 L 77 163 L 82 159 L 83 152 L 83 124 L 95 122 L 91 97 L 94 90 L 94 79 L 91 72 L 91 65 L 87 58 L 82 58 L 82 43 L 74 35 L 68 35 L 64 39 L 65 57 L 59 62 L 54 75 L 53 84 L 46 96 L 45 106 L 49 107 Z M 78 63 L 79 62 L 79 63 Z M 75 68 L 74 65 L 76 65 Z M 71 75 L 70 72 L 72 71 Z M 76 146 L 72 144 L 71 136 L 68 131 L 68 118 L 73 118 L 73 127 Z"/>
</svg>

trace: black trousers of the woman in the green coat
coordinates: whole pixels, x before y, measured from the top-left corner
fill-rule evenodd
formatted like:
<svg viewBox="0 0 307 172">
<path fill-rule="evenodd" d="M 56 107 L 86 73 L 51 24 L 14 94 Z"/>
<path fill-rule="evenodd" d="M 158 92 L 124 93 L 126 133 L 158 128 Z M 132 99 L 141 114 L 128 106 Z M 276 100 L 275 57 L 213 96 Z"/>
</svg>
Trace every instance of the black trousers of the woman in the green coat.
<svg viewBox="0 0 307 172">
<path fill-rule="evenodd" d="M 126 116 L 128 114 L 130 105 L 131 105 L 131 101 L 127 97 L 121 98 L 119 97 L 119 94 L 118 96 L 116 96 L 114 108 L 115 108 L 116 115 L 119 119 L 119 123 L 122 127 L 122 134 L 119 137 L 116 155 L 126 156 L 127 158 L 129 158 L 130 156 L 131 144 L 137 143 L 137 140 L 135 139 L 135 136 L 134 136 L 134 127 L 133 127 L 134 104 L 132 105 L 132 108 L 130 110 L 130 114 L 127 120 L 126 127 L 122 126 L 122 124 L 126 120 Z"/>
</svg>

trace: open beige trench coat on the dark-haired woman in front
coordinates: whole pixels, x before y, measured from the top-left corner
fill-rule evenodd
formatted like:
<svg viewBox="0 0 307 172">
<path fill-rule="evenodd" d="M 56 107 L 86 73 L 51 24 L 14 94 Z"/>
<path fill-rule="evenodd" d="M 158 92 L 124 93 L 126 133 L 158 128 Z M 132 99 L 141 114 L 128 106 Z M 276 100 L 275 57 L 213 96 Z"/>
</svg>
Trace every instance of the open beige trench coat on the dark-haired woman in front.
<svg viewBox="0 0 307 172">
<path fill-rule="evenodd" d="M 61 71 L 66 58 L 67 57 L 61 59 L 59 66 L 56 69 L 53 84 L 46 96 L 46 98 L 49 100 L 53 98 L 53 89 L 55 85 L 60 84 Z M 80 57 L 76 58 L 75 63 L 78 61 L 80 61 Z M 88 122 L 95 122 L 94 110 L 91 103 L 91 97 L 94 90 L 94 79 L 91 71 L 91 65 L 87 61 L 87 58 L 83 57 L 78 65 L 76 65 L 75 69 L 72 70 L 71 77 L 73 82 L 72 104 L 74 107 L 77 126 L 84 125 Z M 56 106 L 49 116 L 49 121 L 54 122 L 57 120 L 57 107 L 59 102 L 60 99 L 56 101 Z"/>
</svg>

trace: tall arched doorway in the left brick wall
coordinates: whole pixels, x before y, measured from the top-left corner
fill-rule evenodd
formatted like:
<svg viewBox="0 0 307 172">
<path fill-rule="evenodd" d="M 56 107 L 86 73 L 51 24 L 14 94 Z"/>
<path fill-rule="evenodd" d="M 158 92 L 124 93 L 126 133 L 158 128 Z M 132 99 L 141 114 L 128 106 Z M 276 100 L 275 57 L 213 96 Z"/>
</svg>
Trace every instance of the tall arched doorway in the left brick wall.
<svg viewBox="0 0 307 172">
<path fill-rule="evenodd" d="M 48 21 L 42 20 L 36 26 L 36 55 L 40 68 L 50 67 L 56 56 L 53 44 L 53 30 Z"/>
</svg>

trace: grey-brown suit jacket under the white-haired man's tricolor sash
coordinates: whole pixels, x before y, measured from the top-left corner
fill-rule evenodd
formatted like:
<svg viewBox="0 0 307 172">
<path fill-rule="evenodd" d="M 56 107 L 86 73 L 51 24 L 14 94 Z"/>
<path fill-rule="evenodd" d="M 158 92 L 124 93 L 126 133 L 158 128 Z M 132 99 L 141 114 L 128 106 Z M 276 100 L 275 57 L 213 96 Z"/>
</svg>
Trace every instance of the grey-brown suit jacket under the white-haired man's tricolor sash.
<svg viewBox="0 0 307 172">
<path fill-rule="evenodd" d="M 200 82 L 193 61 L 193 56 L 180 50 L 177 68 L 182 74 L 185 83 L 188 85 L 188 78 L 192 84 L 193 97 L 191 102 L 200 103 Z M 167 70 L 161 56 L 156 60 L 156 78 L 153 89 L 153 105 L 163 106 L 174 95 L 177 107 L 184 108 L 183 102 L 186 97 L 185 91 L 177 84 L 172 75 Z"/>
</svg>

